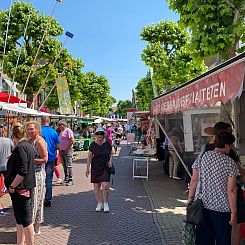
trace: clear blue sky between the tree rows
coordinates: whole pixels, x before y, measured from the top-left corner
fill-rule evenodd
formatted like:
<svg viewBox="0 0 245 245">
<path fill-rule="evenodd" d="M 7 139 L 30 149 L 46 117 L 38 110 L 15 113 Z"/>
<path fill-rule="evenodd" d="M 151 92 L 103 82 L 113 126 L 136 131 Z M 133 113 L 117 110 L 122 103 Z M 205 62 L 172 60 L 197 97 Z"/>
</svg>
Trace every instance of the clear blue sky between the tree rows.
<svg viewBox="0 0 245 245">
<path fill-rule="evenodd" d="M 0 0 L 1 9 L 9 4 Z M 54 5 L 55 0 L 34 0 L 34 7 L 47 15 Z M 163 19 L 178 20 L 165 0 L 63 0 L 54 17 L 74 33 L 66 48 L 83 60 L 83 71 L 107 77 L 117 100 L 131 100 L 132 89 L 148 70 L 140 58 L 146 45 L 140 40 L 142 28 Z"/>
</svg>

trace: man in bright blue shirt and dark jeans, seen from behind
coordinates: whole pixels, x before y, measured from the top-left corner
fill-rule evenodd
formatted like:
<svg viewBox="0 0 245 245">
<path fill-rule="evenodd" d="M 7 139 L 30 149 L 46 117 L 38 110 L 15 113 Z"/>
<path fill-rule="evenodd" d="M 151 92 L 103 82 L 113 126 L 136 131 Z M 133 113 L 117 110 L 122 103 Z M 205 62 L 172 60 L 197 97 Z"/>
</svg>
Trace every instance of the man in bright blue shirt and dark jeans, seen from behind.
<svg viewBox="0 0 245 245">
<path fill-rule="evenodd" d="M 48 146 L 48 161 L 45 164 L 46 172 L 46 193 L 44 206 L 50 207 L 52 200 L 52 180 L 54 174 L 54 167 L 56 161 L 56 151 L 57 145 L 60 143 L 60 138 L 58 133 L 50 126 L 50 118 L 45 116 L 41 119 L 42 124 L 42 137 L 46 141 Z"/>
</svg>

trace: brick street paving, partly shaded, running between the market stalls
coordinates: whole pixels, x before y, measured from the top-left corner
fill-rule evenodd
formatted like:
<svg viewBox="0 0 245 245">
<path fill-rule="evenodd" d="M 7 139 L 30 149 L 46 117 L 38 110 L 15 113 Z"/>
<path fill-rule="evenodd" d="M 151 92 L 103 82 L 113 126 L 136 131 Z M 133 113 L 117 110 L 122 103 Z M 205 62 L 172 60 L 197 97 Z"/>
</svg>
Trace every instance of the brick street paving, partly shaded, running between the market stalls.
<svg viewBox="0 0 245 245">
<path fill-rule="evenodd" d="M 109 213 L 95 212 L 90 179 L 85 177 L 86 152 L 74 161 L 74 186 L 55 185 L 52 207 L 45 208 L 41 245 L 181 244 L 185 199 L 183 181 L 170 180 L 162 165 L 150 163 L 149 181 L 132 180 L 132 161 L 125 145 L 114 156 L 116 175 L 111 187 Z M 82 159 L 81 159 L 81 158 Z M 55 177 L 54 177 L 55 180 Z M 9 203 L 7 195 L 3 198 Z M 0 216 L 0 244 L 15 244 L 12 209 Z"/>
</svg>

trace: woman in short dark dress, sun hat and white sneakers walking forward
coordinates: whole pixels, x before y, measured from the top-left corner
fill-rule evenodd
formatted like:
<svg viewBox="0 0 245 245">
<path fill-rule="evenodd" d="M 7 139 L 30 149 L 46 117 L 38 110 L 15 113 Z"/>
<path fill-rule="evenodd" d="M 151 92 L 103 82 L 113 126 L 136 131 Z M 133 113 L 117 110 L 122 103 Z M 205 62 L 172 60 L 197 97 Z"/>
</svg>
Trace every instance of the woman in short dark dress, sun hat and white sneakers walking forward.
<svg viewBox="0 0 245 245">
<path fill-rule="evenodd" d="M 94 191 L 97 200 L 96 212 L 104 209 L 109 212 L 108 196 L 110 173 L 108 169 L 112 167 L 112 147 L 105 140 L 105 131 L 103 128 L 97 128 L 95 131 L 96 140 L 89 146 L 86 176 L 90 174 L 91 165 L 91 183 L 94 184 Z M 103 190 L 103 201 L 101 200 L 101 187 Z"/>
</svg>

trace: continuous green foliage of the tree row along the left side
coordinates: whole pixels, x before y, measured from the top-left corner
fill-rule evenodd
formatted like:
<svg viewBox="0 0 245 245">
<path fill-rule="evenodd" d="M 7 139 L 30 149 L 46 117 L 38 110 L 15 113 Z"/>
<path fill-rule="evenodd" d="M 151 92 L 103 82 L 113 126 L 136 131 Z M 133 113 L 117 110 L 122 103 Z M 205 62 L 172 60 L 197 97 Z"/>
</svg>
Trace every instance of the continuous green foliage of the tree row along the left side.
<svg viewBox="0 0 245 245">
<path fill-rule="evenodd" d="M 9 10 L 0 10 L 0 55 L 3 54 L 8 15 Z M 29 24 L 24 35 L 29 16 Z M 32 101 L 33 94 L 39 90 L 48 73 L 48 79 L 43 84 L 46 94 L 53 87 L 55 79 L 60 74 L 65 75 L 73 106 L 77 102 L 85 114 L 92 111 L 93 114 L 106 115 L 109 107 L 115 102 L 115 98 L 110 96 L 108 80 L 93 72 L 87 74 L 82 72 L 83 61 L 73 58 L 59 41 L 63 32 L 63 28 L 55 18 L 39 13 L 30 3 L 15 1 L 11 10 L 4 73 L 11 79 L 15 78 L 19 89 L 22 90 L 31 70 L 25 90 L 29 101 Z M 44 33 L 43 43 L 37 52 Z M 69 69 L 67 63 L 71 64 Z M 56 89 L 45 106 L 51 109 L 59 107 Z"/>
</svg>

